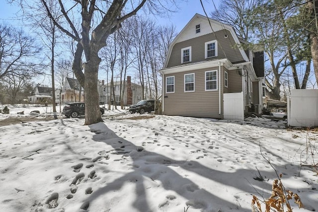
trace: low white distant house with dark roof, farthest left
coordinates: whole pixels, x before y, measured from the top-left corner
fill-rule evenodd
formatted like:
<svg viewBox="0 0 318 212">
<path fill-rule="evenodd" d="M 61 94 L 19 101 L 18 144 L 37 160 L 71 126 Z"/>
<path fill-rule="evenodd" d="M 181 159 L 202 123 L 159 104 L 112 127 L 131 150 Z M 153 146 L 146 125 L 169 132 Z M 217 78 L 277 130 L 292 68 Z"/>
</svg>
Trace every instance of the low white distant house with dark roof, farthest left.
<svg viewBox="0 0 318 212">
<path fill-rule="evenodd" d="M 34 89 L 34 95 L 28 96 L 28 101 L 31 104 L 52 103 L 52 87 L 36 86 Z M 59 103 L 60 89 L 55 90 L 55 102 Z"/>
</svg>

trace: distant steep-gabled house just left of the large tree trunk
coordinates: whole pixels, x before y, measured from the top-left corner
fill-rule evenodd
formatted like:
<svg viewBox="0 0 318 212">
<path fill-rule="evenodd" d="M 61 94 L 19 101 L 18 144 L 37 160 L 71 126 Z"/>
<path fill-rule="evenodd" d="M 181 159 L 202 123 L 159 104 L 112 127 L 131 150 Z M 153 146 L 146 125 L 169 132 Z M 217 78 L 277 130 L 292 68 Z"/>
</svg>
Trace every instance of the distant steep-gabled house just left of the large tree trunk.
<svg viewBox="0 0 318 212">
<path fill-rule="evenodd" d="M 79 80 L 66 77 L 61 92 L 61 103 L 78 102 L 79 93 L 80 101 L 84 102 L 84 89 L 80 87 Z"/>
</svg>

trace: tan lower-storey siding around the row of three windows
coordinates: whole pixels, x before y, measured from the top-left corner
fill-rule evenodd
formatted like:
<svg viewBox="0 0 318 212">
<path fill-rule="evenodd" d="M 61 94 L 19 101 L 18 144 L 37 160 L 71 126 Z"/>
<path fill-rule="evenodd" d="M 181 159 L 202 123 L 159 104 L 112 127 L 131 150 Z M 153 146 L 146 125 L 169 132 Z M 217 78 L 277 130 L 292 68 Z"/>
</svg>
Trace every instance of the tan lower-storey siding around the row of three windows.
<svg viewBox="0 0 318 212">
<path fill-rule="evenodd" d="M 164 115 L 223 118 L 219 115 L 219 90 L 205 91 L 205 71 L 218 70 L 219 67 L 164 74 Z M 218 87 L 219 73 L 218 71 Z M 195 91 L 184 92 L 184 74 L 195 73 Z M 174 76 L 174 93 L 166 93 L 165 79 Z M 222 81 L 222 80 L 221 80 Z M 222 83 L 224 84 L 224 83 Z M 223 85 L 221 85 L 223 87 Z M 222 97 L 223 95 L 221 95 Z"/>
</svg>

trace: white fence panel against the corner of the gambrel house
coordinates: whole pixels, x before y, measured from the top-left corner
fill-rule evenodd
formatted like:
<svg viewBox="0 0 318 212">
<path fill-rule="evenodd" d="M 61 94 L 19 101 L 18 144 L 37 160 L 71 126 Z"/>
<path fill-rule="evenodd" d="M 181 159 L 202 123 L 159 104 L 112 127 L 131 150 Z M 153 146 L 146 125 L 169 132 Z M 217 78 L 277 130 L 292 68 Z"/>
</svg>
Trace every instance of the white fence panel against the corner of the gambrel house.
<svg viewBox="0 0 318 212">
<path fill-rule="evenodd" d="M 244 120 L 244 97 L 240 93 L 223 94 L 224 119 Z"/>
</svg>

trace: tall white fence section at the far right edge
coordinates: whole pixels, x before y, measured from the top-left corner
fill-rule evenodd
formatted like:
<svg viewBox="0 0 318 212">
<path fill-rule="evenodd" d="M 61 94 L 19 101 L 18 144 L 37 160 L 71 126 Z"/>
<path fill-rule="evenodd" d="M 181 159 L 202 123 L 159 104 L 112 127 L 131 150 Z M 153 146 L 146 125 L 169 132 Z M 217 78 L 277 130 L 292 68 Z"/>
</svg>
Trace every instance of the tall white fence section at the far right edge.
<svg viewBox="0 0 318 212">
<path fill-rule="evenodd" d="M 291 90 L 287 99 L 287 123 L 293 127 L 318 126 L 318 89 Z"/>
</svg>

